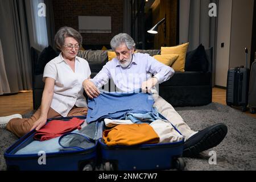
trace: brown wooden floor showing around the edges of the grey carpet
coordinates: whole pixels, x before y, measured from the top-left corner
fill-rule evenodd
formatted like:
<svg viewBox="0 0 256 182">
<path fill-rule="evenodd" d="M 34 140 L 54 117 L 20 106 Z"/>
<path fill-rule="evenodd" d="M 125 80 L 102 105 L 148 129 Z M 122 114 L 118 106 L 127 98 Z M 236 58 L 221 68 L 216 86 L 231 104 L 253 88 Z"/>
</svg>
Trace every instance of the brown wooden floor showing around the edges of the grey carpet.
<svg viewBox="0 0 256 182">
<path fill-rule="evenodd" d="M 226 105 L 226 90 L 220 88 L 213 88 L 213 102 Z M 0 96 L 0 116 L 11 114 L 25 114 L 33 109 L 32 91 L 19 92 L 9 96 Z M 236 108 L 240 110 L 240 108 Z M 246 111 L 247 115 L 256 118 L 256 114 L 250 114 Z"/>
</svg>

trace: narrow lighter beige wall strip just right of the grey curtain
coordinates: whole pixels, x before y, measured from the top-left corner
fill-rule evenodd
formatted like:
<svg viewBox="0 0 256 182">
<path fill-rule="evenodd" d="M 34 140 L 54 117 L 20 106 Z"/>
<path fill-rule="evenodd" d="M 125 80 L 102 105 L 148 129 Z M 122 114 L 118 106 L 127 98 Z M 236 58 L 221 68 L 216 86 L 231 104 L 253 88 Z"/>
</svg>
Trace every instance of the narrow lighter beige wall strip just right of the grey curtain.
<svg viewBox="0 0 256 182">
<path fill-rule="evenodd" d="M 218 86 L 226 86 L 229 69 L 231 22 L 232 0 L 219 1 L 215 74 L 215 85 Z M 221 43 L 224 43 L 224 48 L 221 48 Z"/>
</svg>

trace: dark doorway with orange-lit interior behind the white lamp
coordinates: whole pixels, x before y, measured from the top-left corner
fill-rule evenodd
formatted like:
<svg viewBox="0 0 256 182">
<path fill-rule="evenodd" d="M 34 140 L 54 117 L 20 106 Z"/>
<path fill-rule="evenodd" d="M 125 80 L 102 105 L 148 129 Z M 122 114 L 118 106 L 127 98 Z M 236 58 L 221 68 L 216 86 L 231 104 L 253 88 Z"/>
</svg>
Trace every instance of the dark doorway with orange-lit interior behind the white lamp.
<svg viewBox="0 0 256 182">
<path fill-rule="evenodd" d="M 137 49 L 160 49 L 162 46 L 176 46 L 179 42 L 179 0 L 132 0 L 131 35 Z M 158 34 L 149 34 L 161 19 Z"/>
</svg>

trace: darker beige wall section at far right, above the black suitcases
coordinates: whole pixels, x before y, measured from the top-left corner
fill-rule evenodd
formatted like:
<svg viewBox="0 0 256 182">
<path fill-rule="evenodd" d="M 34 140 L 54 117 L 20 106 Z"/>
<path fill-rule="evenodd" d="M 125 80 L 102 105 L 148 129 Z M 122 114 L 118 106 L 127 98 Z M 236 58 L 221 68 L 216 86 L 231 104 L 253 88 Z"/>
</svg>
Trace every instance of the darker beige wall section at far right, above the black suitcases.
<svg viewBox="0 0 256 182">
<path fill-rule="evenodd" d="M 249 48 L 250 67 L 253 7 L 254 0 L 233 0 L 229 68 L 246 65 L 245 47 Z"/>
</svg>

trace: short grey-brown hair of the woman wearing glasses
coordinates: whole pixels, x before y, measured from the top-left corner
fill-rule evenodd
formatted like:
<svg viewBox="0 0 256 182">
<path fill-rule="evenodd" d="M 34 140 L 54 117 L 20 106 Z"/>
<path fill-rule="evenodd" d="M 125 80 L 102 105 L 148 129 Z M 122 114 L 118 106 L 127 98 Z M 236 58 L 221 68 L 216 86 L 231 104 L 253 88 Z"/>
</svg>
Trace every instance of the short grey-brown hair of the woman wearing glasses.
<svg viewBox="0 0 256 182">
<path fill-rule="evenodd" d="M 79 43 L 79 45 L 82 44 L 82 36 L 78 31 L 76 31 L 74 28 L 71 28 L 71 27 L 61 27 L 57 31 L 54 38 L 55 45 L 58 49 L 61 49 L 61 47 L 63 47 L 65 43 L 65 38 L 67 37 L 74 38 Z"/>
</svg>

